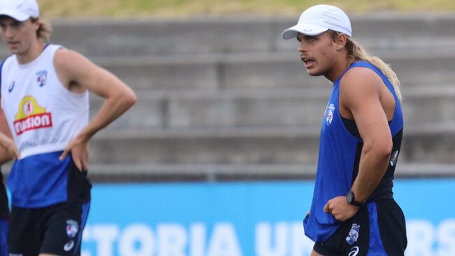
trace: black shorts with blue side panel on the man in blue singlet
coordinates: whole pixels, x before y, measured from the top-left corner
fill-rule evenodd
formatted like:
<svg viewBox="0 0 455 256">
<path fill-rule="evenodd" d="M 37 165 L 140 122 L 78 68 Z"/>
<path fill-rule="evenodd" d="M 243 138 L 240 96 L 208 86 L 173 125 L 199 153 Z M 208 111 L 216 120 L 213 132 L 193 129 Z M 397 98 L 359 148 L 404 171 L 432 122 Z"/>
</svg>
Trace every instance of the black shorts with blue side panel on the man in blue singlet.
<svg viewBox="0 0 455 256">
<path fill-rule="evenodd" d="M 324 256 L 403 256 L 406 246 L 405 215 L 395 200 L 383 199 L 362 206 L 313 250 Z"/>
</svg>

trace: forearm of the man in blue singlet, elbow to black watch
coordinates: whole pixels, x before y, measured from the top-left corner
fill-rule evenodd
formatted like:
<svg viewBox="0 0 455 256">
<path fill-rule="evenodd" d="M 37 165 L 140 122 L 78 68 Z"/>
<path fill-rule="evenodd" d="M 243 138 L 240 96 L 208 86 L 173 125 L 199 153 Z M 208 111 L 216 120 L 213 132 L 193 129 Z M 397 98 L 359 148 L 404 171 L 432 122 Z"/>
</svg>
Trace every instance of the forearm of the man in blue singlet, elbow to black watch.
<svg viewBox="0 0 455 256">
<path fill-rule="evenodd" d="M 373 149 L 362 151 L 358 175 L 351 187 L 356 201 L 366 201 L 370 197 L 386 173 L 389 158 L 390 153 L 377 152 Z"/>
</svg>

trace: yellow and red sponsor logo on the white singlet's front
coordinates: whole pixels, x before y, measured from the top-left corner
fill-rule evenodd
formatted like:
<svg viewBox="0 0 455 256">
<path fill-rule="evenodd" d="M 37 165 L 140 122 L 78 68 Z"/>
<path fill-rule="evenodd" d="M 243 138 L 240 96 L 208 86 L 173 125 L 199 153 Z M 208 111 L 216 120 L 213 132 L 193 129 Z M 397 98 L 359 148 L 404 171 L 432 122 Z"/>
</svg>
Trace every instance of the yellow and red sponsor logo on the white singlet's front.
<svg viewBox="0 0 455 256">
<path fill-rule="evenodd" d="M 18 113 L 13 122 L 16 135 L 40 128 L 52 127 L 52 115 L 45 112 L 45 108 L 38 105 L 31 96 L 24 97 L 19 103 Z"/>
</svg>

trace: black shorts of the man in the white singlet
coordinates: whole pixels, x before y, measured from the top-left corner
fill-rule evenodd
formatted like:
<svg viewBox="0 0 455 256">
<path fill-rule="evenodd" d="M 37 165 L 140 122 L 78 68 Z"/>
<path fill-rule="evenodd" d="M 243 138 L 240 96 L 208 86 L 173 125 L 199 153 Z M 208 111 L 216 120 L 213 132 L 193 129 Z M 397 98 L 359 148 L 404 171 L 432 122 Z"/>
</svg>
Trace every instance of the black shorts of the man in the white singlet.
<svg viewBox="0 0 455 256">
<path fill-rule="evenodd" d="M 80 255 L 80 239 L 90 203 L 64 202 L 44 208 L 13 206 L 9 232 L 9 251 L 36 256 Z"/>
</svg>

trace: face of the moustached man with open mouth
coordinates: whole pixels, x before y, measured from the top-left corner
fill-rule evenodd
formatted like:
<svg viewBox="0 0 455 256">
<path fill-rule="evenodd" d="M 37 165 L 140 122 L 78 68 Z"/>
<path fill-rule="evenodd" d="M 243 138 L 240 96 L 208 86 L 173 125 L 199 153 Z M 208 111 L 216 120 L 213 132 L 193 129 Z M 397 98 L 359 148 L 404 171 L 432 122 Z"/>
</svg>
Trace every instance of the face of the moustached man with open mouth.
<svg viewBox="0 0 455 256">
<path fill-rule="evenodd" d="M 336 62 L 336 45 L 330 32 L 317 36 L 297 34 L 298 51 L 310 76 L 327 76 Z"/>
</svg>

